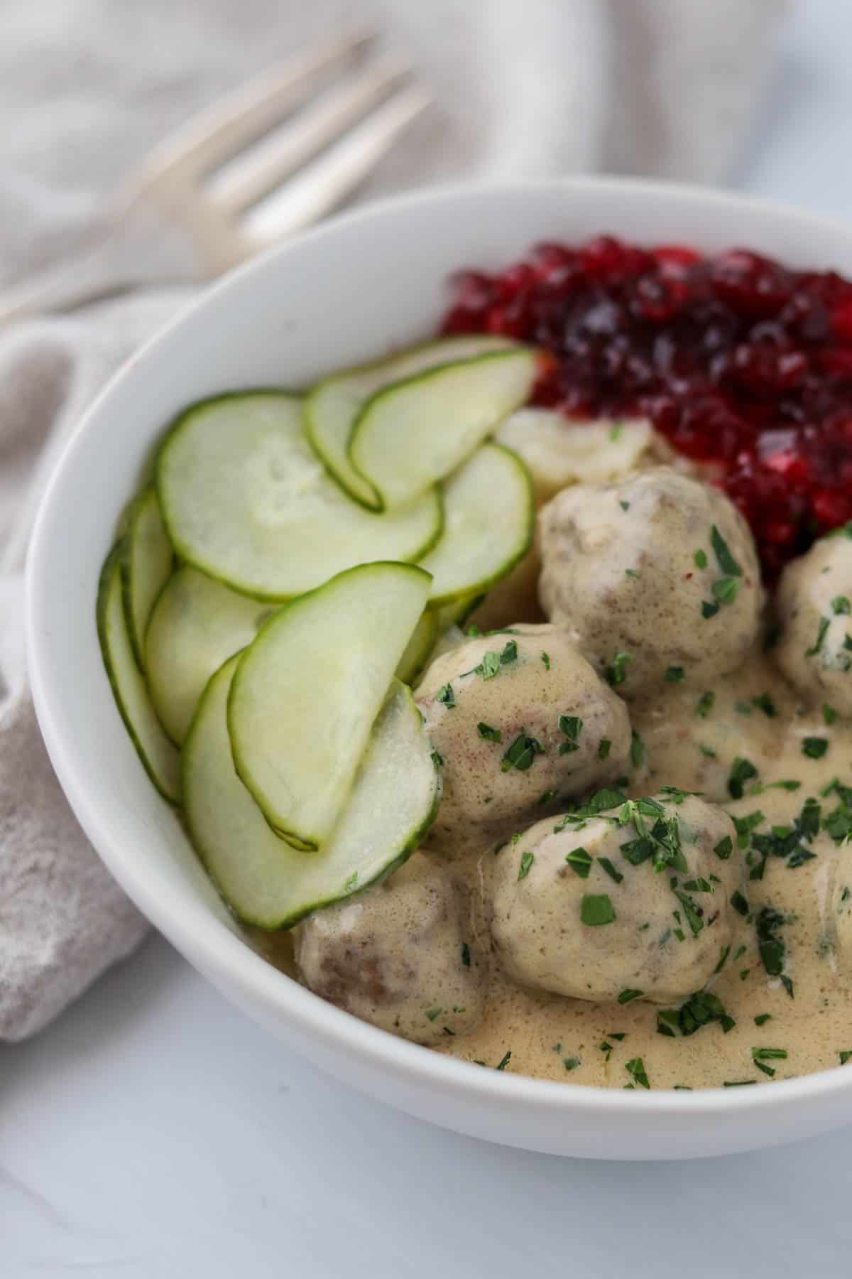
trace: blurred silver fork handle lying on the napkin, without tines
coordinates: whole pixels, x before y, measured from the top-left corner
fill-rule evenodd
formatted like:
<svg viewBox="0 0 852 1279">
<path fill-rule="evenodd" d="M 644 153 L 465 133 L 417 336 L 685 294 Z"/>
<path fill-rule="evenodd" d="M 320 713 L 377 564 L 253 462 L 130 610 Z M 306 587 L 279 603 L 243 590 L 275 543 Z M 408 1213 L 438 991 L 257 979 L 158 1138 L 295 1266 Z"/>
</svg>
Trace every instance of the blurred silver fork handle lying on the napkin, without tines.
<svg viewBox="0 0 852 1279">
<path fill-rule="evenodd" d="M 66 261 L 0 293 L 0 325 L 46 312 L 70 311 L 87 302 L 141 284 L 175 284 L 198 279 L 183 237 L 149 219 L 125 219 L 106 226 Z"/>
</svg>

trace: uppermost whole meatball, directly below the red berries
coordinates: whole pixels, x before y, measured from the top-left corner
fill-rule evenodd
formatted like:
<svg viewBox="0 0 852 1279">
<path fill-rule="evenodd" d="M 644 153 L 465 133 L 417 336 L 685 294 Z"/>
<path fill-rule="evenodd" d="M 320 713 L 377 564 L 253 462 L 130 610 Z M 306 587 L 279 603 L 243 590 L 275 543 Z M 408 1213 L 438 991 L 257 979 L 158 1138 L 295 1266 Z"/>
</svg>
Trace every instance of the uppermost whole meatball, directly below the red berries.
<svg viewBox="0 0 852 1279">
<path fill-rule="evenodd" d="M 655 467 L 566 489 L 539 521 L 544 611 L 623 697 L 741 664 L 757 633 L 760 569 L 746 522 L 717 489 Z"/>
</svg>

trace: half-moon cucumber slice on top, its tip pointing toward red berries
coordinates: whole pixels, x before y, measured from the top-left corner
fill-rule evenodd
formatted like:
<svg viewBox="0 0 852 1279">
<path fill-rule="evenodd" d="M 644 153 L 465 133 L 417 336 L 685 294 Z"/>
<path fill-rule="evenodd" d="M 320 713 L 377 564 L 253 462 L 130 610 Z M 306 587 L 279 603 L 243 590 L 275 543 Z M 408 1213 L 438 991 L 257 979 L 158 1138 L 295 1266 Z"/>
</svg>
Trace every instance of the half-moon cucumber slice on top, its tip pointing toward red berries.
<svg viewBox="0 0 852 1279">
<path fill-rule="evenodd" d="M 373 395 L 353 426 L 349 457 L 387 510 L 443 480 L 529 398 L 536 353 L 525 347 L 442 365 Z"/>
</svg>

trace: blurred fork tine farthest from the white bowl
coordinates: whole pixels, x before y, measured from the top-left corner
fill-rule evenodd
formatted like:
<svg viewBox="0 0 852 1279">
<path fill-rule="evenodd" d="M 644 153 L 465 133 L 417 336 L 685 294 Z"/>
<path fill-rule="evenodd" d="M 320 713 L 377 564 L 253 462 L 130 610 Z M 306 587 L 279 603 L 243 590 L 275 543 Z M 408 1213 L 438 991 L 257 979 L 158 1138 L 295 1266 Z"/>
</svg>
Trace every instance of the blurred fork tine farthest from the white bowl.
<svg viewBox="0 0 852 1279">
<path fill-rule="evenodd" d="M 356 64 L 372 33 L 350 33 L 267 68 L 221 102 L 195 115 L 149 156 L 141 185 L 161 178 L 199 178 L 254 142 L 330 75 Z"/>
</svg>

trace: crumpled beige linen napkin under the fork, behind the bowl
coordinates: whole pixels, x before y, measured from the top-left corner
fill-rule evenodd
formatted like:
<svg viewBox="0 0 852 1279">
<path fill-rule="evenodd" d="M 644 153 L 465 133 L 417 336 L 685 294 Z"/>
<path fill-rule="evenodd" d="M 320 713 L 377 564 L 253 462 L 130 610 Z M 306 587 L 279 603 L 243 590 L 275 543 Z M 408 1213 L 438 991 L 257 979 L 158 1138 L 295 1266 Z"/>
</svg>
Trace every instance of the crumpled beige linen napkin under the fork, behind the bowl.
<svg viewBox="0 0 852 1279">
<path fill-rule="evenodd" d="M 201 104 L 344 26 L 384 33 L 436 106 L 360 198 L 441 178 L 608 169 L 724 178 L 783 0 L 6 0 L 0 286 L 68 252 Z M 54 778 L 23 654 L 23 561 L 56 451 L 185 299 L 157 289 L 0 331 L 0 1039 L 45 1026 L 144 923 Z"/>
</svg>

